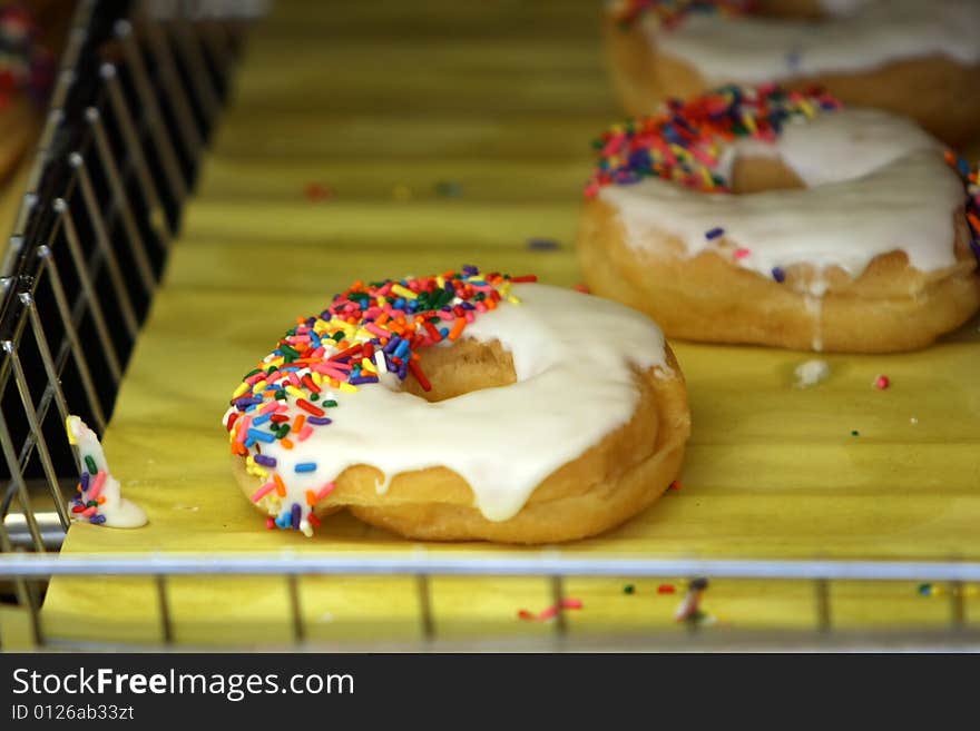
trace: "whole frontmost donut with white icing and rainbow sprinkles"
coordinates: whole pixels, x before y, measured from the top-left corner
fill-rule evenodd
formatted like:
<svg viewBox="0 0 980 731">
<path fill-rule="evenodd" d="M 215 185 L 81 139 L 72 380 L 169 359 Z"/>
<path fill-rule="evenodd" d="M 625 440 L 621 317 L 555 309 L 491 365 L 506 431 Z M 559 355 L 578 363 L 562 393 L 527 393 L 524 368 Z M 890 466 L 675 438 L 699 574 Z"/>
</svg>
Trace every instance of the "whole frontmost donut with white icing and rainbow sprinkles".
<svg viewBox="0 0 980 731">
<path fill-rule="evenodd" d="M 349 508 L 404 536 L 545 543 L 653 503 L 689 433 L 639 313 L 533 277 L 355 283 L 235 389 L 233 471 L 268 527 Z"/>
</svg>

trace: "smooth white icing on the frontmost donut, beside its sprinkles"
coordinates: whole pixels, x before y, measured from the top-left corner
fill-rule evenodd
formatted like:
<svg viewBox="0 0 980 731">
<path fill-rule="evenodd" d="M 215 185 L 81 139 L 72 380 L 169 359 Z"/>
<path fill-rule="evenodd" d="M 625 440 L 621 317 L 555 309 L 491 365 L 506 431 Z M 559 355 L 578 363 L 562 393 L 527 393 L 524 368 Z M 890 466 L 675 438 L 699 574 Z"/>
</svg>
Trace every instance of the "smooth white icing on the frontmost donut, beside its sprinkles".
<svg viewBox="0 0 980 731">
<path fill-rule="evenodd" d="M 463 337 L 499 340 L 517 383 L 429 403 L 382 374 L 356 393 L 325 393 L 337 402 L 329 409 L 332 424 L 292 450 L 261 445 L 276 460 L 287 495 L 280 501 L 270 493 L 259 504 L 277 516 L 298 503 L 305 516 L 306 491 L 352 465 L 381 470 L 381 494 L 398 474 L 444 465 L 469 483 L 484 517 L 504 521 L 548 475 L 626 424 L 639 399 L 634 368 L 667 367 L 659 328 L 623 305 L 570 289 L 522 284 L 512 293 L 521 304 L 478 315 Z M 303 413 L 293 402 L 291 419 Z M 295 472 L 307 462 L 315 472 Z"/>
</svg>

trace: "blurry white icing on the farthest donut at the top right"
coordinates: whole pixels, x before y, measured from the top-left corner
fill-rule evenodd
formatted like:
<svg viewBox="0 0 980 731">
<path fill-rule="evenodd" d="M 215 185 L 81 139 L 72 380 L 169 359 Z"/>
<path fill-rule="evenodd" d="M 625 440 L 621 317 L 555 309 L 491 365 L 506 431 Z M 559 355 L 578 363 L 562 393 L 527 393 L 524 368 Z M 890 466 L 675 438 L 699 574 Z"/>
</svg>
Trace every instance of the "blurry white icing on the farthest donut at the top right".
<svg viewBox="0 0 980 731">
<path fill-rule="evenodd" d="M 810 21 L 692 13 L 673 29 L 645 28 L 666 55 L 686 61 L 710 83 L 764 83 L 927 56 L 980 61 L 976 0 L 829 4 L 843 14 Z"/>
</svg>

